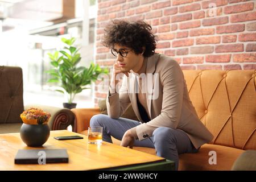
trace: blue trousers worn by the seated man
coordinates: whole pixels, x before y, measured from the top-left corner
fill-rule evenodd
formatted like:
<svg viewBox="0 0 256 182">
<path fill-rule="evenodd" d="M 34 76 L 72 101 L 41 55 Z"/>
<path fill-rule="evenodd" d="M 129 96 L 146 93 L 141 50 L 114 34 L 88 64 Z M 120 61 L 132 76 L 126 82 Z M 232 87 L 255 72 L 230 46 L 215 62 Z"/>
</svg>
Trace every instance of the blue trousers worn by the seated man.
<svg viewBox="0 0 256 182">
<path fill-rule="evenodd" d="M 141 122 L 126 118 L 112 119 L 104 114 L 94 115 L 90 119 L 90 126 L 103 127 L 102 138 L 109 143 L 113 143 L 111 136 L 122 140 L 127 130 L 138 125 L 141 125 Z M 134 146 L 155 148 L 156 155 L 175 162 L 176 170 L 179 167 L 179 154 L 198 152 L 184 131 L 169 127 L 158 127 L 152 137 L 142 141 L 135 140 Z"/>
</svg>

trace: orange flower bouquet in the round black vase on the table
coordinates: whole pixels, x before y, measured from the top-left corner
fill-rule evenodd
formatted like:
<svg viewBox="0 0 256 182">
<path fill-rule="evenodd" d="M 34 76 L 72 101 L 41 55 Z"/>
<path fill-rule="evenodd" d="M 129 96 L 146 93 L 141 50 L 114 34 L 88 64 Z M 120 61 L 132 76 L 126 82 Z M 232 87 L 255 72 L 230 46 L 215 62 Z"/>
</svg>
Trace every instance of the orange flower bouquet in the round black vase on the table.
<svg viewBox="0 0 256 182">
<path fill-rule="evenodd" d="M 36 107 L 31 107 L 20 114 L 20 118 L 22 118 L 23 123 L 28 125 L 45 125 L 49 121 L 50 117 L 51 114 Z"/>
</svg>

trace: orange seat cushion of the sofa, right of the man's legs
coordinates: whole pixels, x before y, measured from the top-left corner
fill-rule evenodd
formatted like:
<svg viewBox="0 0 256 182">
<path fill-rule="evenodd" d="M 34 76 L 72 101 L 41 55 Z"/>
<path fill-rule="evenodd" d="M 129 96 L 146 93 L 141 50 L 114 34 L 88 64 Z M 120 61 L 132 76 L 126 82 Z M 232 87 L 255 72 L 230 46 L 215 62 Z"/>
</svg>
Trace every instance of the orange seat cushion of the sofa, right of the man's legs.
<svg viewBox="0 0 256 182">
<path fill-rule="evenodd" d="M 209 155 L 210 151 L 216 151 L 217 164 L 209 164 L 209 158 L 212 157 L 212 155 Z M 220 146 L 217 144 L 204 144 L 197 153 L 179 155 L 179 170 L 229 171 L 242 152 L 244 152 L 244 150 L 238 148 Z"/>
</svg>

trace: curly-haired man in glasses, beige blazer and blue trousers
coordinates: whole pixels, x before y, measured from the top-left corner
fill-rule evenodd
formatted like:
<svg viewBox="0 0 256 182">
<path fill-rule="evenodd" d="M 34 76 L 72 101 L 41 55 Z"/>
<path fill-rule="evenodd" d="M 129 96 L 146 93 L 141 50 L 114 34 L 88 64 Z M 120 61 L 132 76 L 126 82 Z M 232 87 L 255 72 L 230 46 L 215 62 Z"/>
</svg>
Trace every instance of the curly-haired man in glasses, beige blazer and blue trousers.
<svg viewBox="0 0 256 182">
<path fill-rule="evenodd" d="M 213 139 L 197 117 L 179 64 L 155 53 L 156 36 L 143 21 L 114 20 L 105 32 L 104 46 L 117 57 L 106 99 L 109 116 L 94 115 L 90 126 L 102 126 L 106 142 L 113 136 L 124 147 L 155 148 L 178 169 L 179 154 L 197 152 Z M 130 104 L 140 122 L 120 118 Z"/>
</svg>

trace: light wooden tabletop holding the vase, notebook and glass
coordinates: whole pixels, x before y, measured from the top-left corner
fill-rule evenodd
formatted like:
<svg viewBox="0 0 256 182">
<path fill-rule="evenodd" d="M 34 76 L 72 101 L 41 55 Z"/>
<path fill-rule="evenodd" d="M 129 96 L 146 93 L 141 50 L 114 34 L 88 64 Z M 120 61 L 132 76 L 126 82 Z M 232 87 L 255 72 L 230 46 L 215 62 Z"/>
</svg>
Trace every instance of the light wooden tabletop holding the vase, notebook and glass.
<svg viewBox="0 0 256 182">
<path fill-rule="evenodd" d="M 53 137 L 80 135 L 84 139 L 56 140 Z M 51 131 L 50 137 L 43 147 L 36 149 L 66 148 L 69 163 L 54 164 L 14 164 L 14 157 L 19 149 L 35 149 L 23 143 L 19 133 L 0 134 L 0 170 L 94 170 L 94 169 L 149 169 L 154 166 L 166 168 L 174 166 L 174 162 L 159 156 L 121 147 L 116 144 L 102 142 L 101 145 L 88 144 L 85 135 L 68 130 Z M 167 165 L 167 166 L 166 166 Z"/>
</svg>

